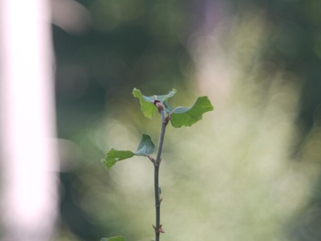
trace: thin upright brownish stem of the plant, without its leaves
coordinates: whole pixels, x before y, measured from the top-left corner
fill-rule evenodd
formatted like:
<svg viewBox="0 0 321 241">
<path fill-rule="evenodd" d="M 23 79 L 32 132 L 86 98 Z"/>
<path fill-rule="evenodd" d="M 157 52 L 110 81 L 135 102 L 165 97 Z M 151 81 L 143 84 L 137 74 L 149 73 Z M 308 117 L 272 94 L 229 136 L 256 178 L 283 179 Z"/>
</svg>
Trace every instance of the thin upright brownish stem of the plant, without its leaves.
<svg viewBox="0 0 321 241">
<path fill-rule="evenodd" d="M 162 119 L 162 124 L 161 124 L 162 127 L 160 129 L 157 155 L 156 155 L 156 160 L 154 162 L 154 191 L 155 191 L 155 208 L 156 208 L 155 241 L 159 241 L 159 234 L 160 234 L 160 231 L 162 230 L 162 227 L 160 226 L 160 189 L 158 185 L 158 173 L 159 173 L 159 164 L 161 160 L 164 137 L 165 137 L 165 130 L 167 126 L 167 123 L 164 122 L 166 117 L 166 112 L 164 110 L 160 111 L 160 115 Z"/>
</svg>

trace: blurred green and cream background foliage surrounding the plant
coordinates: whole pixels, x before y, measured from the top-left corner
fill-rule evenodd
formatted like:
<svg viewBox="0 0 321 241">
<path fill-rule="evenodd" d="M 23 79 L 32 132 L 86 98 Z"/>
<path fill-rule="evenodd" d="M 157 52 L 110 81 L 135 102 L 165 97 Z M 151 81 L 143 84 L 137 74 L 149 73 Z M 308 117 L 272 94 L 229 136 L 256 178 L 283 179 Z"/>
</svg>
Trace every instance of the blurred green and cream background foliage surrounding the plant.
<svg viewBox="0 0 321 241">
<path fill-rule="evenodd" d="M 167 129 L 161 239 L 321 240 L 321 2 L 79 0 L 84 32 L 53 26 L 61 164 L 56 240 L 154 233 L 153 166 L 107 172 L 110 148 L 157 143 L 131 92 L 207 95 L 214 111 Z"/>
</svg>

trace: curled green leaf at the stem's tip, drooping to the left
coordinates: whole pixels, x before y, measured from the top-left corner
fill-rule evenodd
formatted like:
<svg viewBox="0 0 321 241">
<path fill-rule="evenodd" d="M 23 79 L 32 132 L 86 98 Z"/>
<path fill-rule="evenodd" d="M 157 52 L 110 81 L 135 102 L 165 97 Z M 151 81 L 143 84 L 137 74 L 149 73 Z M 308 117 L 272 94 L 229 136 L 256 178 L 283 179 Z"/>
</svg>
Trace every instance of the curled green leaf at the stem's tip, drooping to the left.
<svg viewBox="0 0 321 241">
<path fill-rule="evenodd" d="M 172 89 L 172 91 L 168 92 L 166 95 L 145 96 L 140 90 L 136 88 L 133 89 L 133 95 L 139 99 L 139 103 L 141 103 L 141 110 L 148 118 L 152 118 L 157 111 L 157 108 L 152 103 L 153 101 L 158 99 L 158 101 L 164 103 L 169 97 L 173 97 L 175 93 L 176 90 Z"/>
</svg>

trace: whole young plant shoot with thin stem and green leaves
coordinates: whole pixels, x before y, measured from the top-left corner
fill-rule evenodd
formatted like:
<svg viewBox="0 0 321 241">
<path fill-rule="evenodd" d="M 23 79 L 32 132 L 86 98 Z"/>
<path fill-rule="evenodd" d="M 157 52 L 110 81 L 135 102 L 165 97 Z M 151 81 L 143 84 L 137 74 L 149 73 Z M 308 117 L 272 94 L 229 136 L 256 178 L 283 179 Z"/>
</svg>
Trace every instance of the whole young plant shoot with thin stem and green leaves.
<svg viewBox="0 0 321 241">
<path fill-rule="evenodd" d="M 160 224 L 160 202 L 162 202 L 163 197 L 160 197 L 161 191 L 158 185 L 158 173 L 160 163 L 162 162 L 162 148 L 166 126 L 169 122 L 175 128 L 179 128 L 182 126 L 191 126 L 194 123 L 200 121 L 200 119 L 202 119 L 202 115 L 205 112 L 212 111 L 214 109 L 207 96 L 198 97 L 194 105 L 190 107 L 171 107 L 167 103 L 167 100 L 170 97 L 173 97 L 175 93 L 176 90 L 173 89 L 166 95 L 145 96 L 136 88 L 133 89 L 133 95 L 139 99 L 139 103 L 141 103 L 141 110 L 146 117 L 152 118 L 156 112 L 160 114 L 161 127 L 155 158 L 151 156 L 155 149 L 152 139 L 149 135 L 143 134 L 142 140 L 139 143 L 136 151 L 117 151 L 112 148 L 109 152 L 107 152 L 106 158 L 102 159 L 102 163 L 107 170 L 109 170 L 119 160 L 124 160 L 134 155 L 146 156 L 151 160 L 152 164 L 154 165 L 154 192 L 156 208 L 156 224 L 153 225 L 155 231 L 154 241 L 159 241 L 160 233 L 165 233 L 162 225 Z M 111 237 L 109 239 L 103 238 L 101 241 L 103 240 L 124 241 L 125 238 L 117 236 Z"/>
</svg>

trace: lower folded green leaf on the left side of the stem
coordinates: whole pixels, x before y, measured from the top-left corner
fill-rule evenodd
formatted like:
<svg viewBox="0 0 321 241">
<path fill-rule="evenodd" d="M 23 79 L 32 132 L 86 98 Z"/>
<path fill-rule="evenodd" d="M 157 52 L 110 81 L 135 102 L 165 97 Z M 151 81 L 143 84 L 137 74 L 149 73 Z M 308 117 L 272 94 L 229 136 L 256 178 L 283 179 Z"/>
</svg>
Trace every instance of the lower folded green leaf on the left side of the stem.
<svg viewBox="0 0 321 241">
<path fill-rule="evenodd" d="M 138 148 L 135 152 L 117 151 L 114 148 L 112 148 L 109 152 L 107 152 L 106 158 L 102 159 L 102 163 L 104 164 L 106 169 L 109 170 L 119 160 L 124 160 L 134 155 L 147 156 L 149 154 L 152 154 L 154 150 L 155 146 L 152 142 L 152 138 L 147 134 L 143 134 L 142 140 L 139 143 Z"/>
</svg>

